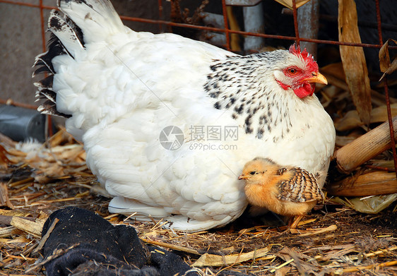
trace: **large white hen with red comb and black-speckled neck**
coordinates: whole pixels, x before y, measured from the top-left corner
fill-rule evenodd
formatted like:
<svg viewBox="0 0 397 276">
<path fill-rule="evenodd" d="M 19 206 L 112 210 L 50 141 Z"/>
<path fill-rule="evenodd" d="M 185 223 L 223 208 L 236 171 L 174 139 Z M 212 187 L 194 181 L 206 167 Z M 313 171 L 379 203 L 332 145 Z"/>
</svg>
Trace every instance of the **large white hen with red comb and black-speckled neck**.
<svg viewBox="0 0 397 276">
<path fill-rule="evenodd" d="M 108 0 L 58 6 L 64 16 L 52 11 L 49 50 L 35 62 L 34 75 L 49 73 L 35 83 L 47 100 L 39 110 L 69 118 L 88 167 L 114 196 L 110 212 L 188 232 L 223 226 L 247 206 L 237 177 L 257 156 L 324 184 L 335 129 L 313 95 L 326 79 L 306 51 L 239 56 L 134 32 Z"/>
</svg>

